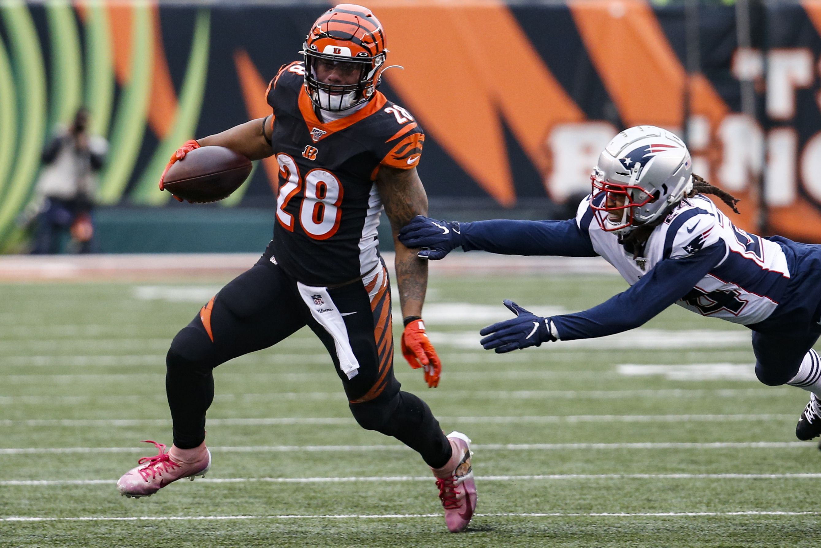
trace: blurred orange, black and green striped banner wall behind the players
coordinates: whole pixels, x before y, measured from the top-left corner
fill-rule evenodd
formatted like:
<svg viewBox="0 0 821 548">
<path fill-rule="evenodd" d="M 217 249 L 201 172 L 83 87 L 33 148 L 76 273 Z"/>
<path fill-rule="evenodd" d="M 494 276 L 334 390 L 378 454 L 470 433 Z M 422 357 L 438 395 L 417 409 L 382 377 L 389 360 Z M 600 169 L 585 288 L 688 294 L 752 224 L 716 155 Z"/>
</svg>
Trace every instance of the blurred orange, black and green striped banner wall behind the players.
<svg viewBox="0 0 821 548">
<path fill-rule="evenodd" d="M 557 214 L 589 188 L 608 140 L 647 123 L 686 137 L 695 173 L 742 199 L 742 227 L 821 242 L 821 0 L 760 7 L 744 48 L 735 7 L 700 6 L 697 70 L 681 6 L 366 3 L 383 22 L 388 64 L 404 67 L 385 71 L 380 89 L 426 133 L 419 170 L 433 205 L 538 203 Z M 266 116 L 268 81 L 300 58 L 322 11 L 0 5 L 0 242 L 33 196 L 49 132 L 80 104 L 111 144 L 99 203 L 167 205 L 156 182 L 168 156 Z M 276 184 L 277 164 L 264 160 L 213 207 L 273 208 Z"/>
</svg>

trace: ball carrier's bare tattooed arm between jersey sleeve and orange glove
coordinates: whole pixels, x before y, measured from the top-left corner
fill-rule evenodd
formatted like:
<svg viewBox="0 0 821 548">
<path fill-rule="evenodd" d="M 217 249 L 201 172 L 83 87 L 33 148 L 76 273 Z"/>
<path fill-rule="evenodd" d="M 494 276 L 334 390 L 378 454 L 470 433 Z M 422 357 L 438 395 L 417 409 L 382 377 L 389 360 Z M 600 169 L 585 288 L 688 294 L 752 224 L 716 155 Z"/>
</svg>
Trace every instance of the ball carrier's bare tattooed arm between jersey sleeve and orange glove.
<svg viewBox="0 0 821 548">
<path fill-rule="evenodd" d="M 424 292 L 428 287 L 428 263 L 416 257 L 399 242 L 399 229 L 416 215 L 428 214 L 428 196 L 416 168 L 396 169 L 382 166 L 376 180 L 385 214 L 391 221 L 396 246 L 397 286 L 402 317 L 422 315 Z"/>
</svg>

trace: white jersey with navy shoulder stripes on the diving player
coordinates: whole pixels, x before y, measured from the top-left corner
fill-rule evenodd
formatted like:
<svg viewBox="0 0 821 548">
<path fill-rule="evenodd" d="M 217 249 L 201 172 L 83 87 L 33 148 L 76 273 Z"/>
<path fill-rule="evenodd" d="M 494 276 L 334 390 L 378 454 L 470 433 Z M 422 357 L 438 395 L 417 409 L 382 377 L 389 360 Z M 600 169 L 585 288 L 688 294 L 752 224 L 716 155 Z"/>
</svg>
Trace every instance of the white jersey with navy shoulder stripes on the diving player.
<svg viewBox="0 0 821 548">
<path fill-rule="evenodd" d="M 678 305 L 701 315 L 750 325 L 765 320 L 784 297 L 790 270 L 782 247 L 736 228 L 708 197 L 699 194 L 681 200 L 650 234 L 644 256 L 635 259 L 619 244 L 616 234 L 600 228 L 595 215 L 604 213 L 592 210 L 590 200 L 588 196 L 580 203 L 576 223 L 589 233 L 594 250 L 616 267 L 627 283 L 638 282 L 662 260 L 691 256 L 723 242 L 724 258 L 677 301 Z"/>
</svg>

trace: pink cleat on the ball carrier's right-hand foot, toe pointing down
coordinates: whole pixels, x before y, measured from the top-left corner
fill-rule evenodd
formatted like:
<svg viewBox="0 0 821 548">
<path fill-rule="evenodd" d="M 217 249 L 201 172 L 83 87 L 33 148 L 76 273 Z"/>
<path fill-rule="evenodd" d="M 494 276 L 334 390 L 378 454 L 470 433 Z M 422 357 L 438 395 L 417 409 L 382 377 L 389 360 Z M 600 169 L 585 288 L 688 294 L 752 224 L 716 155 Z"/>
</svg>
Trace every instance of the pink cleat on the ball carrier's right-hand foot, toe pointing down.
<svg viewBox="0 0 821 548">
<path fill-rule="evenodd" d="M 470 467 L 470 438 L 461 432 L 447 435 L 453 454 L 441 468 L 431 468 L 436 476 L 439 498 L 445 507 L 445 522 L 450 532 L 465 530 L 476 510 L 476 484 Z"/>
</svg>

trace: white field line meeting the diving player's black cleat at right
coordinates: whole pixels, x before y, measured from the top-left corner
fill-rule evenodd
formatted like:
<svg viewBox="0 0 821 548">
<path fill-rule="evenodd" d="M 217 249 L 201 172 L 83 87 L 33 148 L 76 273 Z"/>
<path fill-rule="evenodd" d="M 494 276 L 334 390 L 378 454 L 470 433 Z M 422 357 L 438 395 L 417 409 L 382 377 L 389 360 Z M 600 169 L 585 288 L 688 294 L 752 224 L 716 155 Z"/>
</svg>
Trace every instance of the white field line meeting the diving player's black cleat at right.
<svg viewBox="0 0 821 548">
<path fill-rule="evenodd" d="M 562 422 L 719 422 L 719 421 L 794 421 L 793 414 L 740 414 L 740 415 L 530 415 L 503 417 L 438 417 L 439 421 L 463 424 L 555 424 Z M 353 418 L 343 417 L 267 417 L 209 419 L 213 426 L 291 426 L 291 425 L 347 425 Z M 23 419 L 0 420 L 0 426 L 170 426 L 171 419 Z"/>
</svg>

